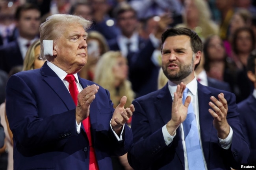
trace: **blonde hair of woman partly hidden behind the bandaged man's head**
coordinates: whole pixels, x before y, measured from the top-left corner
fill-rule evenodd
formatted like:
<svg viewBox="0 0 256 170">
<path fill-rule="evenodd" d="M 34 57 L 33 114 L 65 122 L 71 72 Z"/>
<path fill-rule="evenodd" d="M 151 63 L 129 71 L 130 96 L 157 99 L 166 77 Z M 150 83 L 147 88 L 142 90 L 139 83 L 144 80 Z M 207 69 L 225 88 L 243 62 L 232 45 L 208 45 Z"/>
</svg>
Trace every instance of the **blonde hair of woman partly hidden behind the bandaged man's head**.
<svg viewBox="0 0 256 170">
<path fill-rule="evenodd" d="M 35 48 L 40 46 L 40 40 L 33 42 L 26 52 L 24 62 L 23 62 L 23 71 L 34 69 L 35 62 Z"/>
</svg>

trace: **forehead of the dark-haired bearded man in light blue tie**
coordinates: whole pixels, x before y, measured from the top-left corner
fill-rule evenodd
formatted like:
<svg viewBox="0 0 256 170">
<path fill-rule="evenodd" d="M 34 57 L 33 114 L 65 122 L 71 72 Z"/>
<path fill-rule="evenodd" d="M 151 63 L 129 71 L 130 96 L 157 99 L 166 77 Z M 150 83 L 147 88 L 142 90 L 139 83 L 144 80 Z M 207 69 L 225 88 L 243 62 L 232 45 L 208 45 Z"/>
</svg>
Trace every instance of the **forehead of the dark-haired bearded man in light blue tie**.
<svg viewBox="0 0 256 170">
<path fill-rule="evenodd" d="M 163 48 L 189 48 L 191 47 L 190 37 L 187 35 L 175 35 L 167 37 L 163 42 Z"/>
</svg>

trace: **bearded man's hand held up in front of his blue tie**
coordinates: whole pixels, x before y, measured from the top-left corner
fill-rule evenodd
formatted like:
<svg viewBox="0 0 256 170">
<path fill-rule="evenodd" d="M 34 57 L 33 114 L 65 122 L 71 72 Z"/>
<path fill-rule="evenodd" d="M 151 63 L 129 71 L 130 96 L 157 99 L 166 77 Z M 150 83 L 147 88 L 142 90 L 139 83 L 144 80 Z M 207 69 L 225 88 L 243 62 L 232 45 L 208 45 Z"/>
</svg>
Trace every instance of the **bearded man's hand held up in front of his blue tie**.
<svg viewBox="0 0 256 170">
<path fill-rule="evenodd" d="M 174 135 L 176 129 L 185 121 L 187 117 L 187 108 L 191 101 L 191 97 L 187 96 L 185 103 L 182 103 L 183 92 L 186 84 L 181 82 L 178 84 L 176 92 L 174 92 L 174 99 L 172 104 L 172 118 L 167 122 L 166 128 L 170 135 Z"/>
</svg>

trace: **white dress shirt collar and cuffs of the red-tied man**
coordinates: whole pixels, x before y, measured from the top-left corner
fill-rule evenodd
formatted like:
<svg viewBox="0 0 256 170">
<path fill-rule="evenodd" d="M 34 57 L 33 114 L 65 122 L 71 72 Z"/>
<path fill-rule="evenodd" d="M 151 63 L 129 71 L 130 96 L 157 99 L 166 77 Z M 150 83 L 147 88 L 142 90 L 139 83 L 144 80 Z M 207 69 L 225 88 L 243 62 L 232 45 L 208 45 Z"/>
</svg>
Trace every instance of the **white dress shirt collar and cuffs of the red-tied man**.
<svg viewBox="0 0 256 170">
<path fill-rule="evenodd" d="M 47 65 L 58 75 L 58 77 L 63 81 L 63 83 L 65 84 L 67 90 L 69 91 L 69 82 L 67 80 L 65 80 L 65 77 L 67 76 L 67 73 L 66 71 L 64 71 L 63 69 L 59 68 L 58 66 L 54 65 L 53 63 L 47 61 Z M 79 83 L 79 79 L 78 79 L 78 75 L 77 73 L 74 74 L 74 77 L 76 78 L 76 86 L 78 88 L 78 91 L 82 91 L 83 90 L 83 87 L 81 86 L 81 84 Z M 111 122 L 111 120 L 110 120 Z M 118 136 L 117 133 L 115 133 L 115 131 L 112 129 L 112 126 L 109 122 L 109 125 L 110 125 L 110 128 L 111 130 L 114 132 L 115 134 L 115 137 L 117 138 L 118 141 L 122 141 L 122 133 L 124 131 L 124 126 L 122 127 L 122 132 L 121 132 L 121 135 Z M 76 132 L 77 133 L 80 133 L 80 130 L 81 130 L 81 124 L 82 123 L 77 123 L 76 122 Z"/>
</svg>

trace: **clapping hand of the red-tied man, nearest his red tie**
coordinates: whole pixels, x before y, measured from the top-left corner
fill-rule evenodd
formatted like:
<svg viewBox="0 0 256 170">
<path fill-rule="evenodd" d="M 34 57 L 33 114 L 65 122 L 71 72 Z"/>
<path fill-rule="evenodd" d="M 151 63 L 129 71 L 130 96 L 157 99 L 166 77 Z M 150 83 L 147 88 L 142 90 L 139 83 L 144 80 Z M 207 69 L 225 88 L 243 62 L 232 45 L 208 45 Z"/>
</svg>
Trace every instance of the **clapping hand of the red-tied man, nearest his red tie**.
<svg viewBox="0 0 256 170">
<path fill-rule="evenodd" d="M 95 84 L 84 88 L 77 96 L 78 104 L 76 106 L 76 122 L 80 124 L 89 116 L 91 102 L 95 99 L 96 93 L 100 87 Z"/>
</svg>

